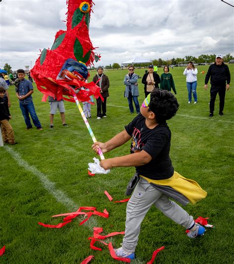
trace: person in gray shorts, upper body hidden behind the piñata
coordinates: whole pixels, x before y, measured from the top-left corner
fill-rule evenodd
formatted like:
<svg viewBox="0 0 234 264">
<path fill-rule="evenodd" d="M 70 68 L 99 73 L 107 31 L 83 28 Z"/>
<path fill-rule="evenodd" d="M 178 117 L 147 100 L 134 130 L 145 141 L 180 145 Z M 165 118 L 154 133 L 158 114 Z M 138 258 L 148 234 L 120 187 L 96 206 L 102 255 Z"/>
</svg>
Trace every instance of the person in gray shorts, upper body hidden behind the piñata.
<svg viewBox="0 0 234 264">
<path fill-rule="evenodd" d="M 50 129 L 54 128 L 54 115 L 57 113 L 57 109 L 60 112 L 63 126 L 68 126 L 65 121 L 65 107 L 63 99 L 57 100 L 56 97 L 49 96 L 49 105 L 50 105 Z"/>
</svg>

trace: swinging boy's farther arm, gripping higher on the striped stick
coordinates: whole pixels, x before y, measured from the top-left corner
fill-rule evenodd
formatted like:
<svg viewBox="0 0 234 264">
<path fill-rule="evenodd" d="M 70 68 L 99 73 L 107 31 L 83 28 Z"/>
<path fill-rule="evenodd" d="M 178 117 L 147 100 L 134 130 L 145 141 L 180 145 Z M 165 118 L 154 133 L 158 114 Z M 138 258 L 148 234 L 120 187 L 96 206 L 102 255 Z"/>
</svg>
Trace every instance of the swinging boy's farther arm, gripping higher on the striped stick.
<svg viewBox="0 0 234 264">
<path fill-rule="evenodd" d="M 105 143 L 95 142 L 92 145 L 92 149 L 96 153 L 98 153 L 99 149 L 101 149 L 101 151 L 103 153 L 105 153 L 105 152 L 111 151 L 111 150 L 116 149 L 117 147 L 123 145 L 130 138 L 131 138 L 131 136 L 128 135 L 127 131 L 123 130 L 122 132 L 118 133 L 115 137 L 113 137 L 112 139 L 110 139 L 109 141 L 107 141 Z"/>
</svg>

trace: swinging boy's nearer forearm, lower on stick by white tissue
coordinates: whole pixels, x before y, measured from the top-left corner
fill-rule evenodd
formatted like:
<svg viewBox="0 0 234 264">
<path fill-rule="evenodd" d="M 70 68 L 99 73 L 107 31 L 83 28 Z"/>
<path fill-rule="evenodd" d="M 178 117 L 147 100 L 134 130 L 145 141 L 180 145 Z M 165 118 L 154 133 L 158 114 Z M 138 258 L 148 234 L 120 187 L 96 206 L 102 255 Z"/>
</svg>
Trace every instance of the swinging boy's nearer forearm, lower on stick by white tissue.
<svg viewBox="0 0 234 264">
<path fill-rule="evenodd" d="M 151 160 L 152 156 L 142 150 L 125 156 L 101 160 L 100 165 L 105 170 L 108 170 L 114 167 L 142 166 L 149 163 Z"/>
</svg>

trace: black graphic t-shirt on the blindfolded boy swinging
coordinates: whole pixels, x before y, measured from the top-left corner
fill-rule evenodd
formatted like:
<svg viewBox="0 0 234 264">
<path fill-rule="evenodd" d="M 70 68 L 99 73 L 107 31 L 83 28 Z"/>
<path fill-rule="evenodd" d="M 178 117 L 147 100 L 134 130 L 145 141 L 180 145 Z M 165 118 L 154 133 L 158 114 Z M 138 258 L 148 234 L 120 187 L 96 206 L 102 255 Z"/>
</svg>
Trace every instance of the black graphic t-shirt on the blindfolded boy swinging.
<svg viewBox="0 0 234 264">
<path fill-rule="evenodd" d="M 126 132 L 132 136 L 130 152 L 144 150 L 152 156 L 149 163 L 136 167 L 136 171 L 153 180 L 168 179 L 174 173 L 169 156 L 171 131 L 166 123 L 149 129 L 145 120 L 142 114 L 138 114 L 125 126 Z"/>
</svg>

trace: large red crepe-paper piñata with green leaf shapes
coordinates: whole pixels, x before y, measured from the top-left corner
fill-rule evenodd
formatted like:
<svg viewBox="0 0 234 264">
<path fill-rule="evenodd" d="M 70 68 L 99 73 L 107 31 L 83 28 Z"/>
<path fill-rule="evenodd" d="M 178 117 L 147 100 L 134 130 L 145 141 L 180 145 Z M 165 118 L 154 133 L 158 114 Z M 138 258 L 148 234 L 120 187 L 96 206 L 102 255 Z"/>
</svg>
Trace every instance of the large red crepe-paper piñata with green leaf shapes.
<svg viewBox="0 0 234 264">
<path fill-rule="evenodd" d="M 70 96 L 70 92 L 64 88 L 63 82 L 58 82 L 57 76 L 61 71 L 61 67 L 68 59 L 81 62 L 86 66 L 93 65 L 94 60 L 97 62 L 100 55 L 94 54 L 94 47 L 89 38 L 89 21 L 92 11 L 92 0 L 67 0 L 67 30 L 59 30 L 55 35 L 55 40 L 51 48 L 43 49 L 35 66 L 31 70 L 31 75 L 36 81 L 37 87 L 41 93 L 47 96 L 56 96 L 58 100 L 64 99 L 75 102 L 73 98 L 63 97 Z M 86 8 L 88 6 L 88 8 Z M 100 95 L 100 88 L 93 82 L 91 84 L 82 84 L 80 81 L 73 82 L 74 86 L 84 86 L 87 88 L 95 88 L 94 97 Z M 82 102 L 89 101 L 82 97 L 82 91 L 78 95 L 78 99 Z M 83 101 L 84 100 L 84 101 Z"/>
</svg>

